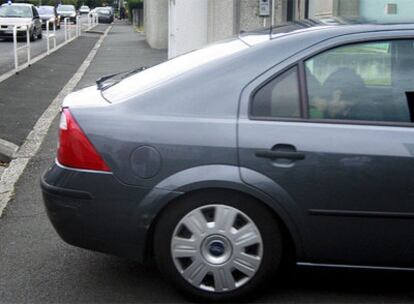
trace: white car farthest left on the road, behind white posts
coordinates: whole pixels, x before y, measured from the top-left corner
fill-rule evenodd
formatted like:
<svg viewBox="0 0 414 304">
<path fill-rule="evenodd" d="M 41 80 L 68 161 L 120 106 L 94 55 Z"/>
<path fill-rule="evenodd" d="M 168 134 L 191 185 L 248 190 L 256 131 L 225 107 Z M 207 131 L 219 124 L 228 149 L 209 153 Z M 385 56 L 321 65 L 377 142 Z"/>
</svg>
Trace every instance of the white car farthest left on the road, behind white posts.
<svg viewBox="0 0 414 304">
<path fill-rule="evenodd" d="M 26 37 L 28 26 L 31 41 L 42 39 L 42 22 L 36 7 L 32 4 L 13 3 L 0 7 L 0 38 L 12 38 L 14 26 L 17 26 L 19 38 Z"/>
</svg>

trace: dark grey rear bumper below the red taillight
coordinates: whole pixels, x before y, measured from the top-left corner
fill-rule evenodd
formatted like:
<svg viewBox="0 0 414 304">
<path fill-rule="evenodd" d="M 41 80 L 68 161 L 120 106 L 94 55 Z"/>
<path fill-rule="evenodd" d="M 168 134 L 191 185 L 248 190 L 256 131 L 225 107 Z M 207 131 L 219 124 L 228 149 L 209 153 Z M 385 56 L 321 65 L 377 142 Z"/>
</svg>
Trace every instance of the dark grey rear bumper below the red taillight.
<svg viewBox="0 0 414 304">
<path fill-rule="evenodd" d="M 179 195 L 123 185 L 112 174 L 54 165 L 41 178 L 47 215 L 67 243 L 144 261 L 153 219 Z"/>
</svg>

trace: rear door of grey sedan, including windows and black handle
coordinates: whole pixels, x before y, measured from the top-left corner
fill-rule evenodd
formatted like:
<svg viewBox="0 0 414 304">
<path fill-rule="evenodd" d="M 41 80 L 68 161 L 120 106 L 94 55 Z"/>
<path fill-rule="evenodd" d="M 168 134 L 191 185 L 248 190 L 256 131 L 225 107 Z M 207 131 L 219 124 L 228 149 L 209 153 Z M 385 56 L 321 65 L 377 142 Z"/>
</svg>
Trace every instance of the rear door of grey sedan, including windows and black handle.
<svg viewBox="0 0 414 304">
<path fill-rule="evenodd" d="M 345 43 L 242 94 L 241 177 L 296 223 L 304 262 L 414 266 L 413 41 Z"/>
</svg>

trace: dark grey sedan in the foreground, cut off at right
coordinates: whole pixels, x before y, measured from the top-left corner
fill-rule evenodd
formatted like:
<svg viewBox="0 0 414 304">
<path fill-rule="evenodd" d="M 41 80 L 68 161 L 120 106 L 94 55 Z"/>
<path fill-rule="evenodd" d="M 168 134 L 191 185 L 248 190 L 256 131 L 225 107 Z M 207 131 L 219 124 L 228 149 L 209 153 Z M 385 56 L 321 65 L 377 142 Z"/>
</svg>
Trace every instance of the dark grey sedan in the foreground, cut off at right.
<svg viewBox="0 0 414 304">
<path fill-rule="evenodd" d="M 414 25 L 304 21 L 101 78 L 64 102 L 49 218 L 207 300 L 292 262 L 413 270 L 413 75 Z"/>
</svg>

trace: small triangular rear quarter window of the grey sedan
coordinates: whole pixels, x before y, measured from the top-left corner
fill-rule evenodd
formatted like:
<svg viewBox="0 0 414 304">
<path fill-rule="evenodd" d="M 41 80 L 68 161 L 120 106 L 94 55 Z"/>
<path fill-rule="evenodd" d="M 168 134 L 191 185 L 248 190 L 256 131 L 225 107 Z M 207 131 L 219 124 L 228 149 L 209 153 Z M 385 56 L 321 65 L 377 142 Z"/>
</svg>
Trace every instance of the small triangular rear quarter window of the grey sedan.
<svg viewBox="0 0 414 304">
<path fill-rule="evenodd" d="M 299 118 L 298 68 L 295 66 L 261 87 L 253 96 L 251 115 L 258 118 Z"/>
</svg>

